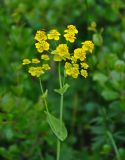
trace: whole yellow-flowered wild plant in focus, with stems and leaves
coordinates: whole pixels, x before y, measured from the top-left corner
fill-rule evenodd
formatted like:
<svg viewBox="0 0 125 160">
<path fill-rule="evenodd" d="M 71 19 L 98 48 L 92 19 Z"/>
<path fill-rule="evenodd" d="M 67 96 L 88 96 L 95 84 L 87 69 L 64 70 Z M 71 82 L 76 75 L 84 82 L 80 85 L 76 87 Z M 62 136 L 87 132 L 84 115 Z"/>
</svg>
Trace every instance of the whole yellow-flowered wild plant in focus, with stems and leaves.
<svg viewBox="0 0 125 160">
<path fill-rule="evenodd" d="M 60 159 L 61 141 L 64 141 L 67 137 L 67 129 L 63 122 L 63 102 L 64 93 L 69 88 L 69 84 L 65 83 L 65 81 L 68 76 L 73 79 L 76 79 L 80 76 L 87 78 L 89 64 L 87 63 L 86 57 L 88 54 L 92 54 L 94 49 L 93 42 L 87 40 L 82 42 L 79 48 L 75 48 L 73 51 L 71 51 L 71 48 L 68 44 L 71 43 L 73 45 L 77 39 L 77 34 L 78 29 L 74 25 L 68 25 L 64 30 L 63 35 L 61 35 L 57 29 L 52 29 L 48 33 L 46 33 L 44 30 L 38 30 L 34 38 L 36 41 L 35 47 L 38 51 L 37 58 L 26 58 L 23 59 L 22 62 L 22 65 L 27 65 L 29 74 L 33 77 L 39 78 L 40 80 L 40 88 L 45 104 L 47 122 L 57 137 L 57 160 Z M 65 43 L 61 43 L 62 39 L 63 42 L 65 41 Z M 52 47 L 52 42 L 56 42 L 56 46 L 54 48 Z M 60 94 L 59 118 L 56 118 L 49 111 L 47 105 L 47 90 L 44 92 L 41 81 L 43 74 L 52 68 L 50 66 L 51 61 L 54 61 L 58 64 L 58 79 L 60 88 L 55 89 L 54 91 Z M 63 67 L 63 74 L 61 72 L 61 67 Z"/>
</svg>

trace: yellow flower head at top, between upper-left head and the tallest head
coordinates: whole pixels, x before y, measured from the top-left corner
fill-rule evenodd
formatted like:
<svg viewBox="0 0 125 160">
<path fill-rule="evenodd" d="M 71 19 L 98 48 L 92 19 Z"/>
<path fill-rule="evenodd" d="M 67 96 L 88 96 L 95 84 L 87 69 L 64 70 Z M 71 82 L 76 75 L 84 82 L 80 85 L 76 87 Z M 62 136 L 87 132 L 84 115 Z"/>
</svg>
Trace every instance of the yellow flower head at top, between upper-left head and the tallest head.
<svg viewBox="0 0 125 160">
<path fill-rule="evenodd" d="M 48 39 L 54 39 L 58 41 L 60 33 L 56 29 L 52 29 L 47 36 L 48 36 Z"/>
</svg>

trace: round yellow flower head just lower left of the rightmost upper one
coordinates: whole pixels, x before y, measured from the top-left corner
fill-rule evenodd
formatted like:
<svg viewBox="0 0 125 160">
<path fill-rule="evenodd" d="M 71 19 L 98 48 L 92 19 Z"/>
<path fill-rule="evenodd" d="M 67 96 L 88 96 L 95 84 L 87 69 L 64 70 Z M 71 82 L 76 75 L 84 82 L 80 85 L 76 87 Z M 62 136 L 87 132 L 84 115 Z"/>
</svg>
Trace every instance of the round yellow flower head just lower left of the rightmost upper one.
<svg viewBox="0 0 125 160">
<path fill-rule="evenodd" d="M 84 61 L 86 58 L 86 52 L 82 48 L 77 48 L 74 50 L 74 57 L 75 59 L 80 59 Z"/>
</svg>

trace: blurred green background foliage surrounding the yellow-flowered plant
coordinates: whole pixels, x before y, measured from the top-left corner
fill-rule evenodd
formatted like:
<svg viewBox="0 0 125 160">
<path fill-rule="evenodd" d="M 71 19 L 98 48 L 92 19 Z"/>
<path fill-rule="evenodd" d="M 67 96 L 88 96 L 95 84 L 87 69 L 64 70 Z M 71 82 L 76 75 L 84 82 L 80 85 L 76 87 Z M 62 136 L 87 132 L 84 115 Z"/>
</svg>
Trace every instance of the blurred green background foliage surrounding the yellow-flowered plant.
<svg viewBox="0 0 125 160">
<path fill-rule="evenodd" d="M 89 78 L 71 80 L 65 95 L 68 139 L 61 160 L 116 160 L 107 131 L 125 158 L 125 2 L 124 0 L 0 1 L 0 159 L 54 160 L 56 138 L 44 114 L 38 80 L 21 62 L 36 54 L 37 29 L 75 24 L 79 36 L 93 39 Z M 58 115 L 56 73 L 43 77 L 50 110 Z"/>
</svg>

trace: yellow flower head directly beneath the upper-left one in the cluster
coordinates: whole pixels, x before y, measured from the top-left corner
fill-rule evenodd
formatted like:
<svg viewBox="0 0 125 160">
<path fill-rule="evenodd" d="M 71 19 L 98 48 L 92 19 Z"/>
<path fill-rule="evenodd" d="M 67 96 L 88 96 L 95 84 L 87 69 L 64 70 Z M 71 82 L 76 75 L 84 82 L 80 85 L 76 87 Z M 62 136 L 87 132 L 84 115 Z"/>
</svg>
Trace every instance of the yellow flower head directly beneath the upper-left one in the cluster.
<svg viewBox="0 0 125 160">
<path fill-rule="evenodd" d="M 46 41 L 40 41 L 35 43 L 35 46 L 37 48 L 37 51 L 42 53 L 43 51 L 48 51 L 49 50 L 49 43 Z"/>
</svg>

